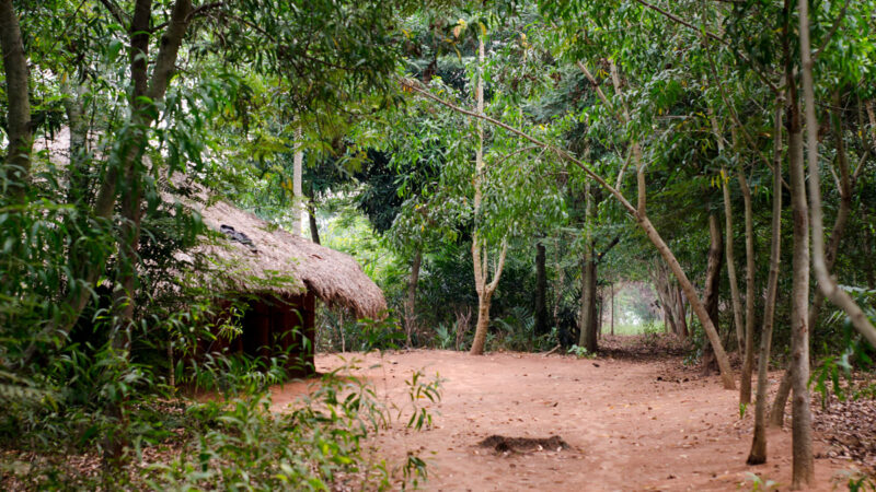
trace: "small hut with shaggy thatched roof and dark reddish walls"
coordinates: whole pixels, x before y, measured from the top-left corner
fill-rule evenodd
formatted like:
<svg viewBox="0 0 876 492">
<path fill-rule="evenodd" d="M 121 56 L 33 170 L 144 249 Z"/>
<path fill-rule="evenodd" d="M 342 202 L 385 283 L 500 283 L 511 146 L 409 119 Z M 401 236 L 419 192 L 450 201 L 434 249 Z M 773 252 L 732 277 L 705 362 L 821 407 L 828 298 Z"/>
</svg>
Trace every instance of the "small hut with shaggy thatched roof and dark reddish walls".
<svg viewBox="0 0 876 492">
<path fill-rule="evenodd" d="M 47 151 L 54 165 L 65 167 L 69 163 L 67 141 L 69 130 L 62 129 L 55 139 L 38 139 L 34 148 Z M 318 297 L 358 317 L 378 318 L 385 311 L 383 293 L 353 257 L 217 200 L 181 175 L 165 185 L 161 187 L 165 202 L 198 212 L 204 223 L 219 233 L 197 248 L 197 256 L 214 262 L 215 268 L 195 267 L 191 273 L 203 286 L 215 289 L 218 302 L 242 294 L 246 303 L 240 336 L 217 339 L 205 350 L 230 349 L 264 360 L 284 354 L 290 374 L 307 375 L 314 370 Z"/>
</svg>

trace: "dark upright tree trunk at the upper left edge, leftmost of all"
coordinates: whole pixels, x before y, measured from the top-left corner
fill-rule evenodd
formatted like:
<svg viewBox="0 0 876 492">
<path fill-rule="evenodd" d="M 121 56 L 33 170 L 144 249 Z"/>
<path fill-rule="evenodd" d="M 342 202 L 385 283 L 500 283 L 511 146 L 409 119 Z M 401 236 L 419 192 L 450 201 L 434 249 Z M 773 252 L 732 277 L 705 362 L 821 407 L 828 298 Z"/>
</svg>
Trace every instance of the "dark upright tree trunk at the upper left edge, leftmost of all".
<svg viewBox="0 0 876 492">
<path fill-rule="evenodd" d="M 30 71 L 24 56 L 19 17 L 12 10 L 12 0 L 0 0 L 0 51 L 7 80 L 7 130 L 9 144 L 2 161 L 10 196 L 23 201 L 31 174 L 33 127 L 31 126 Z"/>
</svg>

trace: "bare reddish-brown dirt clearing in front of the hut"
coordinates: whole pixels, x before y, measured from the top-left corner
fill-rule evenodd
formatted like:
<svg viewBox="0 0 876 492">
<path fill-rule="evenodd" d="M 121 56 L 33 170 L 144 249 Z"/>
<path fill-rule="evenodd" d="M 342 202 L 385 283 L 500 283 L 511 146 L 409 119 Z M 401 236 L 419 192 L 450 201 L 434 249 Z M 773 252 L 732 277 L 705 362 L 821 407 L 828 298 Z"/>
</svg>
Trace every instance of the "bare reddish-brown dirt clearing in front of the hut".
<svg viewBox="0 0 876 492">
<path fill-rule="evenodd" d="M 426 490 L 752 490 L 750 473 L 779 490 L 791 483 L 788 424 L 771 431 L 769 461 L 747 466 L 753 406 L 740 419 L 737 391 L 684 368 L 679 358 L 415 350 L 318 355 L 316 368 L 327 372 L 350 359 L 360 361 L 355 374 L 397 406 L 406 405 L 404 382 L 413 372 L 443 378 L 441 401 L 428 406 L 430 430 L 407 431 L 400 422 L 372 443 L 390 462 L 418 454 L 428 465 Z M 772 384 L 780 377 L 771 375 Z M 275 408 L 303 388 L 278 388 Z M 493 435 L 558 436 L 568 446 L 479 446 Z M 827 445 L 818 438 L 815 447 L 814 490 L 845 490 L 844 481 L 834 487 L 835 478 L 853 464 L 821 458 Z"/>
</svg>

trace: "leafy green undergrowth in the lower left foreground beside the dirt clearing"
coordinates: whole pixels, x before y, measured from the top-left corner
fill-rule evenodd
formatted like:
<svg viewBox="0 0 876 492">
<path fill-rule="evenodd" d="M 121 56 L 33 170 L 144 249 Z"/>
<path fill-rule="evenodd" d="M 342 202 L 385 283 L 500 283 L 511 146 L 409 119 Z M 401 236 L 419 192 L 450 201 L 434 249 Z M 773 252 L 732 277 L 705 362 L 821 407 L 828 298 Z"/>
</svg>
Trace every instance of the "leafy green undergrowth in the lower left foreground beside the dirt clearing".
<svg viewBox="0 0 876 492">
<path fill-rule="evenodd" d="M 415 431 L 430 426 L 431 414 L 420 401 L 440 399 L 440 379 L 426 380 L 423 373 L 415 373 L 406 382 L 410 403 L 390 409 L 370 384 L 346 375 L 354 364 L 323 375 L 313 393 L 287 409 L 274 406 L 269 379 L 247 375 L 252 365 L 233 360 L 205 365 L 205 373 L 231 368 L 229 384 L 214 397 L 152 398 L 129 407 L 124 430 L 131 437 L 132 459 L 127 465 L 102 466 L 100 446 L 94 447 L 100 444 L 94 438 L 101 435 L 97 431 L 92 437 L 84 432 L 70 446 L 54 450 L 20 441 L 20 446 L 3 452 L 0 483 L 41 490 L 416 487 L 426 477 L 426 464 L 418 456 L 391 466 L 370 455 L 362 441 L 388 429 L 393 414 Z M 101 414 L 79 412 L 88 423 Z M 49 421 L 31 434 L 46 434 Z M 78 422 L 70 420 L 54 438 L 72 437 L 72 427 L 82 426 Z"/>
</svg>

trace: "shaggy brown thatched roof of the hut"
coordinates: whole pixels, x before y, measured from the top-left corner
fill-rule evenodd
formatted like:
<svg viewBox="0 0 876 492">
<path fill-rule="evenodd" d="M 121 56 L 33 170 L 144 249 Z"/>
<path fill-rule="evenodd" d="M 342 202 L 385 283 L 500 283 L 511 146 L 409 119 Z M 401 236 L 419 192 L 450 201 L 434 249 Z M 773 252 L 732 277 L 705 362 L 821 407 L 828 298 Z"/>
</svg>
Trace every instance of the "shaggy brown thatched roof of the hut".
<svg viewBox="0 0 876 492">
<path fill-rule="evenodd" d="M 290 234 L 226 201 L 181 201 L 199 212 L 210 229 L 218 232 L 223 225 L 230 226 L 252 242 L 246 245 L 228 237 L 205 246 L 210 256 L 233 269 L 231 281 L 241 292 L 293 294 L 309 289 L 331 306 L 371 318 L 387 308 L 383 292 L 349 255 Z"/>
</svg>

